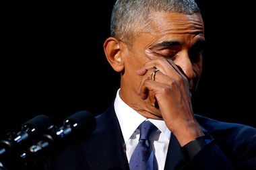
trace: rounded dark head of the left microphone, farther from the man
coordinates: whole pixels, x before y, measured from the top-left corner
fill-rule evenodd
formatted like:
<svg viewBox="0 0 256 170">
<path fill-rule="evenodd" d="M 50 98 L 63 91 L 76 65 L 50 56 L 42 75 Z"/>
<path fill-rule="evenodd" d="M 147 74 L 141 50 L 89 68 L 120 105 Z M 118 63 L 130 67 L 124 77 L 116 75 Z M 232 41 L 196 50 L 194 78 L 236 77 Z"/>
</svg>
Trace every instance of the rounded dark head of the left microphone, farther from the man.
<svg viewBox="0 0 256 170">
<path fill-rule="evenodd" d="M 22 130 L 33 133 L 42 133 L 53 124 L 51 118 L 40 114 L 22 124 Z"/>
</svg>

